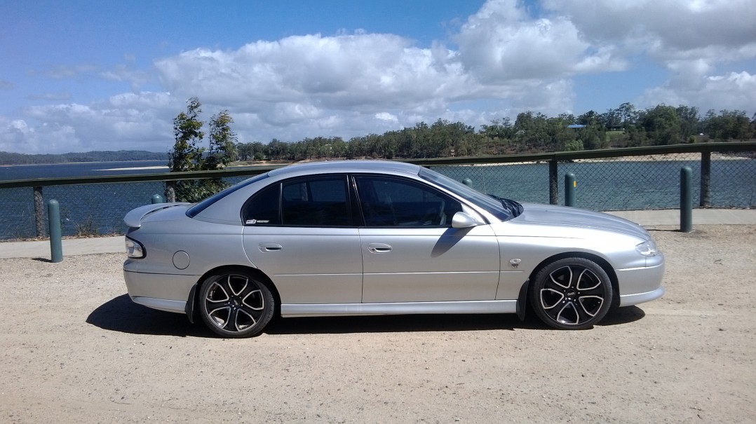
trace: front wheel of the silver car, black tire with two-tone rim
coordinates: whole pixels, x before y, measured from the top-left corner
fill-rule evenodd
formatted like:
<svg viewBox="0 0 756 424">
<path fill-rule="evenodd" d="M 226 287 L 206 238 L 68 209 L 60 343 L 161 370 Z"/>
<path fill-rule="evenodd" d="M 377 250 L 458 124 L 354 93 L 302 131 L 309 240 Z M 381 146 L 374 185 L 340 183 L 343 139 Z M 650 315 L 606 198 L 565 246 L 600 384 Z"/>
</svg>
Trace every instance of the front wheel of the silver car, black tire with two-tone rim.
<svg viewBox="0 0 756 424">
<path fill-rule="evenodd" d="M 563 258 L 541 268 L 531 286 L 531 306 L 547 326 L 585 330 L 612 307 L 612 281 L 596 262 Z"/>
</svg>

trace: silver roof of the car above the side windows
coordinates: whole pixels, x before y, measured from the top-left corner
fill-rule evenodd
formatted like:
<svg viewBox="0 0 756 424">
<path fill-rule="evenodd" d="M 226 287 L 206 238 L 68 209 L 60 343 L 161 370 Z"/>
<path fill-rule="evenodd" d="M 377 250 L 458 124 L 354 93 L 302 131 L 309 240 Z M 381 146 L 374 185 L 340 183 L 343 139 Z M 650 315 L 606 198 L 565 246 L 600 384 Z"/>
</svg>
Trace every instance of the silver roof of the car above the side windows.
<svg viewBox="0 0 756 424">
<path fill-rule="evenodd" d="M 417 175 L 420 166 L 389 160 L 331 160 L 326 162 L 299 163 L 268 172 L 271 177 L 305 175 L 327 172 L 406 172 Z"/>
</svg>

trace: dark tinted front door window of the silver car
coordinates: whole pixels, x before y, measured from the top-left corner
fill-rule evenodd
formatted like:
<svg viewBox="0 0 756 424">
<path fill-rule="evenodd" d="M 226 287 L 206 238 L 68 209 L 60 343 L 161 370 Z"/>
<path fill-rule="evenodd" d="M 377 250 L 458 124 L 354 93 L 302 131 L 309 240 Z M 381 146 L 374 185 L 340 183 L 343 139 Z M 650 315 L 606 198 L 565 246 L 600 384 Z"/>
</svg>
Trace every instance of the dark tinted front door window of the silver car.
<svg viewBox="0 0 756 424">
<path fill-rule="evenodd" d="M 400 178 L 355 177 L 368 227 L 451 227 L 459 202 L 432 187 Z"/>
</svg>

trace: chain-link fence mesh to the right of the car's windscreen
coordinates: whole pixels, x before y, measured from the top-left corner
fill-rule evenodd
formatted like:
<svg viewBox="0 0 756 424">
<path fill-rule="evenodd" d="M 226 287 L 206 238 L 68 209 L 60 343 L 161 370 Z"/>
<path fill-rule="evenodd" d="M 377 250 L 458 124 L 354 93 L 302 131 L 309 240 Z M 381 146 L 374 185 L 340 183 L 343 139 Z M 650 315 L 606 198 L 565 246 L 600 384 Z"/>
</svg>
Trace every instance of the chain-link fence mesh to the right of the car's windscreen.
<svg viewBox="0 0 756 424">
<path fill-rule="evenodd" d="M 433 166 L 457 181 L 469 179 L 472 187 L 520 202 L 550 203 L 547 161 L 465 166 Z M 680 169 L 692 170 L 694 204 L 714 208 L 756 206 L 756 159 L 753 152 L 711 155 L 711 197 L 701 200 L 701 153 L 663 156 L 622 156 L 556 162 L 558 202 L 564 204 L 564 176 L 575 175 L 575 206 L 598 211 L 670 209 L 680 206 Z"/>
</svg>

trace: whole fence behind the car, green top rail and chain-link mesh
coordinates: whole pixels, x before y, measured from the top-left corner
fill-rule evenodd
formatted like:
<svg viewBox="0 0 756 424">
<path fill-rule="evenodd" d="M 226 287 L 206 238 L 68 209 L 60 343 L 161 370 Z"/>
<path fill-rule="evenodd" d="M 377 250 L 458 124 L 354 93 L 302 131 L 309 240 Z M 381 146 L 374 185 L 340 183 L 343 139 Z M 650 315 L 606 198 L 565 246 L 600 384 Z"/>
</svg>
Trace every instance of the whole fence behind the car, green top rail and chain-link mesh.
<svg viewBox="0 0 756 424">
<path fill-rule="evenodd" d="M 563 203 L 562 178 L 577 179 L 584 209 L 669 209 L 680 202 L 680 168 L 693 171 L 693 199 L 701 207 L 756 206 L 756 142 L 407 160 L 472 187 L 514 200 Z M 222 178 L 234 184 L 280 166 L 222 171 L 164 172 L 81 178 L 0 181 L 0 240 L 44 237 L 47 200 L 60 203 L 64 235 L 122 234 L 122 217 L 169 197 L 174 181 Z M 168 198 L 168 200 L 171 200 Z"/>
</svg>

